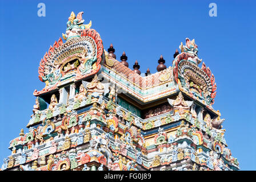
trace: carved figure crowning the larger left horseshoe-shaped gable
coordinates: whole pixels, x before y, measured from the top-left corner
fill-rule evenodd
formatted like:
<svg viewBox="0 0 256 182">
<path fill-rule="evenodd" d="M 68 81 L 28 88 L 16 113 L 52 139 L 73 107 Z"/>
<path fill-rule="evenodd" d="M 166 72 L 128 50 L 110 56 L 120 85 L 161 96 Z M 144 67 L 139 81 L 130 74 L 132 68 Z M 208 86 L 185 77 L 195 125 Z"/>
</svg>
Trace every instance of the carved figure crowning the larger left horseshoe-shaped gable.
<svg viewBox="0 0 256 182">
<path fill-rule="evenodd" d="M 80 37 L 81 32 L 83 30 L 88 30 L 91 27 L 91 20 L 89 24 L 83 24 L 85 22 L 84 19 L 82 19 L 83 11 L 79 12 L 77 14 L 77 17 L 75 17 L 74 12 L 72 11 L 69 16 L 69 21 L 67 22 L 67 28 L 66 33 L 62 33 L 62 37 L 65 40 L 69 40 L 71 38 L 77 38 Z"/>
</svg>

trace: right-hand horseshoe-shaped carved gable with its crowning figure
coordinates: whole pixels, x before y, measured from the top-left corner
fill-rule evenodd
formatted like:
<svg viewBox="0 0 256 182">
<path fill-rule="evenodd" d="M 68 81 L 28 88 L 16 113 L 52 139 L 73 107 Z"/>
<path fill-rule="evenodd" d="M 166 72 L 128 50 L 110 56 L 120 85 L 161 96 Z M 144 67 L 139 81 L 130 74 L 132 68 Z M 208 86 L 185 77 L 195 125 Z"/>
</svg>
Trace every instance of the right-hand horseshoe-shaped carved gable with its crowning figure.
<svg viewBox="0 0 256 182">
<path fill-rule="evenodd" d="M 198 67 L 202 59 L 197 56 L 198 46 L 195 40 L 190 41 L 186 38 L 186 46 L 181 43 L 179 48 L 181 53 L 176 55 L 173 61 L 173 76 L 179 90 L 203 104 L 213 105 L 217 85 L 210 68 L 206 68 L 205 63 L 202 64 L 202 68 Z"/>
</svg>

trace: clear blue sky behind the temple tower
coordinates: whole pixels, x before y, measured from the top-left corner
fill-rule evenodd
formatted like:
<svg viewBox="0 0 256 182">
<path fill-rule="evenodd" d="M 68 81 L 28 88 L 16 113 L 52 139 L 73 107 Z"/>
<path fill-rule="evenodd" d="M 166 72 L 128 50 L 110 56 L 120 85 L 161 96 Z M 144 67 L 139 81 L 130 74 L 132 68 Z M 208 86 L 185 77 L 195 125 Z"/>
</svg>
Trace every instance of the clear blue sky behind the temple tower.
<svg viewBox="0 0 256 182">
<path fill-rule="evenodd" d="M 37 16 L 37 5 L 46 16 Z M 217 17 L 209 4 L 217 4 Z M 39 61 L 65 33 L 71 11 L 84 11 L 85 23 L 99 32 L 105 49 L 113 43 L 117 59 L 125 51 L 129 67 L 156 72 L 163 55 L 169 67 L 185 38 L 195 39 L 198 56 L 217 82 L 214 109 L 226 118 L 223 128 L 232 155 L 243 170 L 255 170 L 255 1 L 1 1 L 0 2 L 0 165 L 9 156 L 32 114 Z M 201 65 L 199 65 L 201 67 Z"/>
</svg>

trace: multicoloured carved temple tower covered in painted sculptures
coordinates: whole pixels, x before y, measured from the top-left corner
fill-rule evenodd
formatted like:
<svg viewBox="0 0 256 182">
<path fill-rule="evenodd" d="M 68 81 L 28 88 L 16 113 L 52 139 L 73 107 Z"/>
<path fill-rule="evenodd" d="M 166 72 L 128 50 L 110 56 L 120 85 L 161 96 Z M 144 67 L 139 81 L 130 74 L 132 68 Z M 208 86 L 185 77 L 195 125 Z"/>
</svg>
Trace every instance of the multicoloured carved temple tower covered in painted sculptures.
<svg viewBox="0 0 256 182">
<path fill-rule="evenodd" d="M 213 109 L 217 85 L 198 58 L 195 40 L 176 49 L 172 67 L 141 74 L 126 53 L 71 13 L 65 34 L 39 63 L 42 90 L 27 123 L 11 140 L 1 170 L 231 171 L 238 170 Z"/>
</svg>

